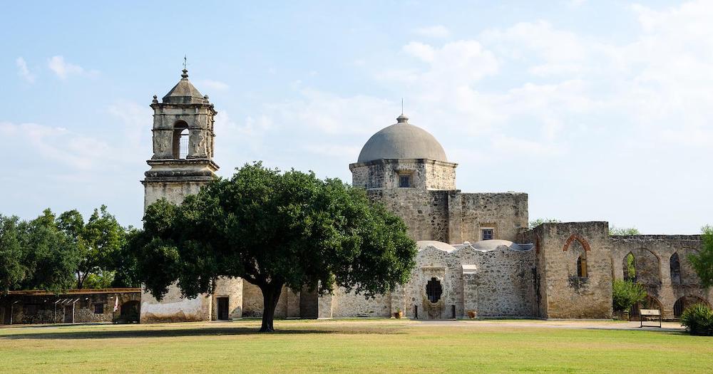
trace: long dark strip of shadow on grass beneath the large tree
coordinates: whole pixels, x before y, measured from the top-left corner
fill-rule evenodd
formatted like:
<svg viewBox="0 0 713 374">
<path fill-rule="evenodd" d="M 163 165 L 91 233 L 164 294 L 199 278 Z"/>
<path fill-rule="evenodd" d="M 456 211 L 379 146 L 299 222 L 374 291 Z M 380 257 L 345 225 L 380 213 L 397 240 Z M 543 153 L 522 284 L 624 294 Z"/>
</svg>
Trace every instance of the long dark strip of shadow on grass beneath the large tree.
<svg viewBox="0 0 713 374">
<path fill-rule="evenodd" d="M 0 336 L 0 340 L 48 339 L 116 339 L 116 338 L 182 338 L 187 336 L 270 336 L 299 334 L 391 334 L 398 333 L 396 328 L 311 328 L 284 329 L 274 333 L 259 333 L 257 327 L 195 327 L 195 328 L 146 328 L 139 330 L 86 330 L 17 333 Z"/>
</svg>

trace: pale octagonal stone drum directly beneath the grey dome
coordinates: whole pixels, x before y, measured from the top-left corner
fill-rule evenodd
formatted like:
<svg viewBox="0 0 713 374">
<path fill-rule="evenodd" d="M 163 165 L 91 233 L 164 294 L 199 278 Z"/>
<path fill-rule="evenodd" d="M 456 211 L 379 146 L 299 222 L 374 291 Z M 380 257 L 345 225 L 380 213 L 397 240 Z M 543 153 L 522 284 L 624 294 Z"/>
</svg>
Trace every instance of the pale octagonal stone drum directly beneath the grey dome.
<svg viewBox="0 0 713 374">
<path fill-rule="evenodd" d="M 399 188 L 399 175 L 411 177 L 411 188 L 456 189 L 456 164 L 435 160 L 374 160 L 349 165 L 352 185 L 365 189 Z"/>
</svg>

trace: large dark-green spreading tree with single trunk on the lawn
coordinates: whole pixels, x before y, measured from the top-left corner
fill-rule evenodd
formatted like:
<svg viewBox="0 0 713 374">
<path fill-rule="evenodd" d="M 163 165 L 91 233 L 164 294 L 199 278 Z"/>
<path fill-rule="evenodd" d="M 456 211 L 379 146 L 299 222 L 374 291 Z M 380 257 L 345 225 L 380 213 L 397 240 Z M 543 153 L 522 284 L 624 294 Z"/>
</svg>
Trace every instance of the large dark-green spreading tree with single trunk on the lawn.
<svg viewBox="0 0 713 374">
<path fill-rule="evenodd" d="M 416 255 L 406 224 L 364 190 L 260 163 L 183 204 L 150 205 L 132 246 L 140 280 L 158 298 L 175 281 L 184 296 L 210 292 L 220 276 L 260 287 L 260 331 L 273 331 L 283 286 L 384 294 L 409 279 Z"/>
</svg>

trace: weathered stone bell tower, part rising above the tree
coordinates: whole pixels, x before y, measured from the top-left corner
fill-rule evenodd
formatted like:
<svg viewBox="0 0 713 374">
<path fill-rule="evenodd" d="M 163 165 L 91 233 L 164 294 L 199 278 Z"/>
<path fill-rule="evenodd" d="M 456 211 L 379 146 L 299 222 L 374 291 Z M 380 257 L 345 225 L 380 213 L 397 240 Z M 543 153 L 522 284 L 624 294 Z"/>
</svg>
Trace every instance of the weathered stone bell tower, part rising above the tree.
<svg viewBox="0 0 713 374">
<path fill-rule="evenodd" d="M 153 109 L 153 156 L 146 162 L 144 210 L 166 198 L 180 204 L 189 194 L 215 178 L 218 165 L 213 162 L 214 118 L 217 112 L 188 80 L 188 71 Z"/>
</svg>

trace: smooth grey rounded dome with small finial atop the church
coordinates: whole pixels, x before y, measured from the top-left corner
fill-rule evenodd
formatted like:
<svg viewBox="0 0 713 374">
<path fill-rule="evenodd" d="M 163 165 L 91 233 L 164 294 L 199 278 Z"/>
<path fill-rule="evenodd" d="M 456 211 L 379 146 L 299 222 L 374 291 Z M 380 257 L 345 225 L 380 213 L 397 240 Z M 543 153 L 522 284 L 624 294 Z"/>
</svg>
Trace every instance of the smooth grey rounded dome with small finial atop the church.
<svg viewBox="0 0 713 374">
<path fill-rule="evenodd" d="M 382 158 L 427 158 L 448 161 L 441 143 L 428 131 L 411 125 L 409 118 L 399 115 L 396 124 L 372 135 L 361 148 L 356 162 L 369 162 Z"/>
</svg>

